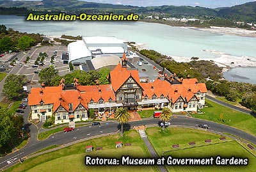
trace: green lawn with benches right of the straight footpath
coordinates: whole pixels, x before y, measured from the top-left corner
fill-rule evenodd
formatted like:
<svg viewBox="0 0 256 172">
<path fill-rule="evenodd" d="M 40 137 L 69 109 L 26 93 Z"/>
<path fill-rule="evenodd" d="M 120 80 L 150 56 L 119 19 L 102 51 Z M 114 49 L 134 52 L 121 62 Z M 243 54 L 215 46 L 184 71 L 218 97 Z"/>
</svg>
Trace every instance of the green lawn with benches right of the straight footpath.
<svg viewBox="0 0 256 172">
<path fill-rule="evenodd" d="M 221 157 L 231 158 L 248 158 L 248 166 L 166 166 L 169 171 L 255 171 L 256 158 L 252 153 L 248 152 L 243 146 L 236 141 L 228 139 L 220 141 L 217 134 L 212 134 L 202 130 L 167 128 L 162 130 L 158 127 L 148 128 L 147 136 L 160 156 L 172 156 L 173 158 L 216 158 Z M 214 144 L 205 144 L 205 139 L 212 139 Z M 189 146 L 188 143 L 195 141 L 195 146 Z M 172 145 L 180 144 L 180 148 L 172 148 Z M 201 146 L 198 146 L 201 145 Z M 163 151 L 166 151 L 163 153 Z M 215 162 L 215 160 L 214 160 Z"/>
</svg>

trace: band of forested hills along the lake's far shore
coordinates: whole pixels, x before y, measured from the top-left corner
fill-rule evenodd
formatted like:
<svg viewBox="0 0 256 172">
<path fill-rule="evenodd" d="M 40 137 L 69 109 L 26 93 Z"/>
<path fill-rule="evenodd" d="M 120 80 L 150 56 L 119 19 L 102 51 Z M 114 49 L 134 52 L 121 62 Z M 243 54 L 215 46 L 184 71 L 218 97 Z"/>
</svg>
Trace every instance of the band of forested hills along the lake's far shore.
<svg viewBox="0 0 256 172">
<path fill-rule="evenodd" d="M 90 1 L 90 0 L 88 0 Z M 200 6 L 147 6 L 138 7 L 122 4 L 92 3 L 79 0 L 8 1 L 0 0 L 0 7 L 26 7 L 42 10 L 65 10 L 67 12 L 115 12 L 115 13 L 164 13 L 173 17 L 223 17 L 225 19 L 256 22 L 256 1 L 225 8 L 204 8 Z"/>
</svg>

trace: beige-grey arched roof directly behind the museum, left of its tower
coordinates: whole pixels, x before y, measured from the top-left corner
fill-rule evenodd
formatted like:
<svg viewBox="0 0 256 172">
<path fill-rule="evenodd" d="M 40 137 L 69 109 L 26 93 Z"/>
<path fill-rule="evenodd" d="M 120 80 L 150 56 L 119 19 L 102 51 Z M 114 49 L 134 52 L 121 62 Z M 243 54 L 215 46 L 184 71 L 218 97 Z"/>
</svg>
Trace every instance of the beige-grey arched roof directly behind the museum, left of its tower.
<svg viewBox="0 0 256 172">
<path fill-rule="evenodd" d="M 121 63 L 122 60 L 113 54 L 101 54 L 95 56 L 91 61 L 95 70 L 97 70 L 105 66 L 116 66 L 118 63 Z"/>
</svg>

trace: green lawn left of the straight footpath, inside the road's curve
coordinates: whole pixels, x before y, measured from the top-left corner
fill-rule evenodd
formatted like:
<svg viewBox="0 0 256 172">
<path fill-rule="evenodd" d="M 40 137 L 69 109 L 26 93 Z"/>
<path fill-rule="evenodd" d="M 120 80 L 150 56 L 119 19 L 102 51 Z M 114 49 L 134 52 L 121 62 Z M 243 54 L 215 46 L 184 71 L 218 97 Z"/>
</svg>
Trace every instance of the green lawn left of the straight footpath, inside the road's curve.
<svg viewBox="0 0 256 172">
<path fill-rule="evenodd" d="M 115 142 L 132 143 L 131 146 L 115 148 Z M 99 146 L 103 150 L 85 153 L 84 146 Z M 140 135 L 135 130 L 125 132 L 124 137 L 119 135 L 100 137 L 76 145 L 68 146 L 54 152 L 38 155 L 31 159 L 24 160 L 22 164 L 17 164 L 6 171 L 157 171 L 154 166 L 85 166 L 84 157 L 115 157 L 120 159 L 122 155 L 133 157 L 150 157 L 146 146 Z"/>
</svg>

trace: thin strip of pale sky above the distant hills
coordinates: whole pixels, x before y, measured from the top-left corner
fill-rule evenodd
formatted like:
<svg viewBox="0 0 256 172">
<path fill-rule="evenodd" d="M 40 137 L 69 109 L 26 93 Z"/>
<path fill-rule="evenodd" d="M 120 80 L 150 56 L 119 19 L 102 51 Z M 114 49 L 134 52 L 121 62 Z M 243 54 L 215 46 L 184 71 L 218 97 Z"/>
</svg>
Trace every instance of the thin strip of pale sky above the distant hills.
<svg viewBox="0 0 256 172">
<path fill-rule="evenodd" d="M 133 6 L 203 6 L 207 8 L 218 8 L 223 6 L 235 6 L 256 0 L 80 0 L 95 3 L 125 4 Z"/>
</svg>

